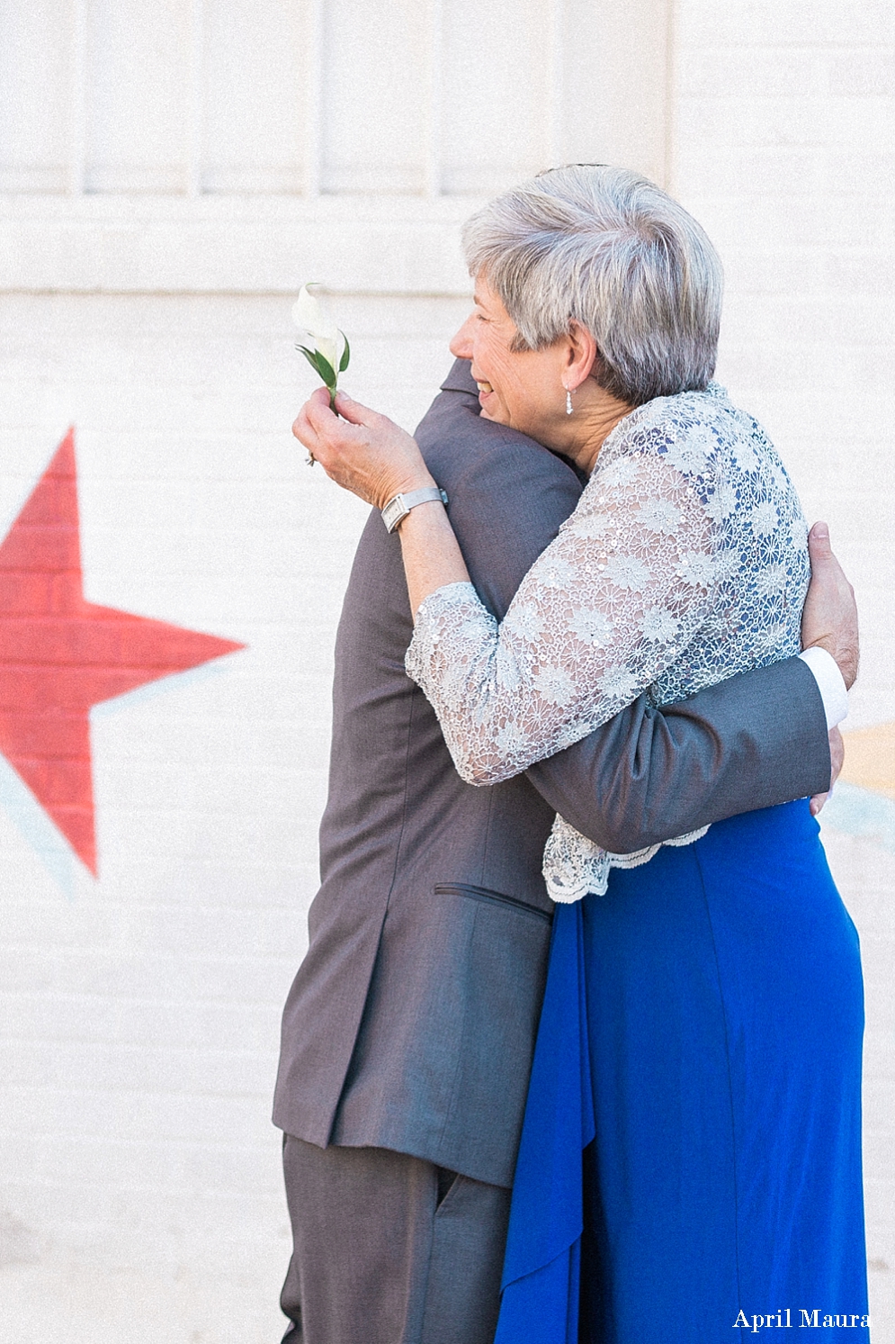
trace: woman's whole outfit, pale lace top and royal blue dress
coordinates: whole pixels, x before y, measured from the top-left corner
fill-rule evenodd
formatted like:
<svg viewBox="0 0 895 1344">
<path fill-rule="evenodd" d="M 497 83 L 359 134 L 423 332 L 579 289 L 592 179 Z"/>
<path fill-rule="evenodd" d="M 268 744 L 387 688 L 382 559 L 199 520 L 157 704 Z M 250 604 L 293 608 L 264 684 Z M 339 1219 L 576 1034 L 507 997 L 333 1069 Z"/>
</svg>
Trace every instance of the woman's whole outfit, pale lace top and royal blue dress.
<svg viewBox="0 0 895 1344">
<path fill-rule="evenodd" d="M 472 583 L 426 597 L 407 672 L 464 780 L 497 784 L 644 691 L 796 655 L 806 536 L 723 388 L 654 398 L 500 622 Z M 808 802 L 640 857 L 563 817 L 544 851 L 560 905 L 497 1344 L 865 1340 L 857 937 Z"/>
</svg>

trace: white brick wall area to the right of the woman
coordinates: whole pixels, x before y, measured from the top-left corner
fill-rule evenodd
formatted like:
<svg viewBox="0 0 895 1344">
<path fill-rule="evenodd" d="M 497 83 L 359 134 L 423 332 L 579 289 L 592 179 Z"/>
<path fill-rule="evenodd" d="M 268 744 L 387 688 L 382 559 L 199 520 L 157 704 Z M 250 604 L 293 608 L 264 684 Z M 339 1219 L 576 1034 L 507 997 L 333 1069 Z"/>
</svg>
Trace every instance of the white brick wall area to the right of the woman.
<svg viewBox="0 0 895 1344">
<path fill-rule="evenodd" d="M 849 726 L 895 719 L 895 7 L 683 0 L 673 190 L 719 246 L 718 376 L 825 517 L 861 614 Z M 895 857 L 833 828 L 867 978 L 865 1176 L 875 1344 L 895 1341 Z"/>
</svg>

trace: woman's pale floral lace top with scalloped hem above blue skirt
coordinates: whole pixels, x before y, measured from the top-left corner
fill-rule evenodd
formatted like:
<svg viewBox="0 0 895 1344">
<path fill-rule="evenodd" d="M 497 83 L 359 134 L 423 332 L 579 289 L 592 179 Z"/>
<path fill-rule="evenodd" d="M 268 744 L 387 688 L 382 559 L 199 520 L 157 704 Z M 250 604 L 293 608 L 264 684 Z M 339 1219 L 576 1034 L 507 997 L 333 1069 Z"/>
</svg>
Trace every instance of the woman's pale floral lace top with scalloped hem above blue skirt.
<svg viewBox="0 0 895 1344">
<path fill-rule="evenodd" d="M 809 577 L 805 519 L 777 452 L 711 383 L 648 402 L 615 426 L 500 625 L 472 583 L 431 593 L 407 673 L 462 778 L 497 784 L 587 737 L 645 689 L 671 704 L 798 653 Z M 544 852 L 550 895 L 602 894 L 610 866 L 645 863 L 657 849 L 606 853 L 556 817 Z"/>
</svg>

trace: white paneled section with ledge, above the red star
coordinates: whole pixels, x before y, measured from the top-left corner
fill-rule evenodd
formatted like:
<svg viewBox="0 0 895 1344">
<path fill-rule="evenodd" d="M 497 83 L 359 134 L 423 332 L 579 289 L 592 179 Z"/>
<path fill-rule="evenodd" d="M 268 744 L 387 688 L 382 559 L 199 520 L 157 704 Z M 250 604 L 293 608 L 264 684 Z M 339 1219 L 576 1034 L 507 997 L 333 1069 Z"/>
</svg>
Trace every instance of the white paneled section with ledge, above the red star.
<svg viewBox="0 0 895 1344">
<path fill-rule="evenodd" d="M 0 289 L 465 292 L 493 192 L 664 180 L 669 4 L 0 0 Z"/>
</svg>

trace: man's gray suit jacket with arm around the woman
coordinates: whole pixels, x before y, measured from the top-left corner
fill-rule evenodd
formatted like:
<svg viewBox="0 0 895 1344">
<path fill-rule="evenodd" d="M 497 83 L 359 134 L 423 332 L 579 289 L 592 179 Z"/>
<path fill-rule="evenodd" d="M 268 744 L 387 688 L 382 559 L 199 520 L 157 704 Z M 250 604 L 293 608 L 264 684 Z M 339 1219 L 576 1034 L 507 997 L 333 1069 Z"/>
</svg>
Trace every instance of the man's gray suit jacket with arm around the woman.
<svg viewBox="0 0 895 1344">
<path fill-rule="evenodd" d="M 458 362 L 417 437 L 500 618 L 581 481 L 482 421 L 474 394 Z M 525 775 L 473 788 L 404 673 L 411 630 L 400 542 L 374 511 L 336 642 L 321 887 L 284 1012 L 274 1122 L 508 1185 L 550 943 L 554 812 L 624 853 L 820 792 L 824 708 L 790 659 L 663 712 L 641 696 Z"/>
</svg>

